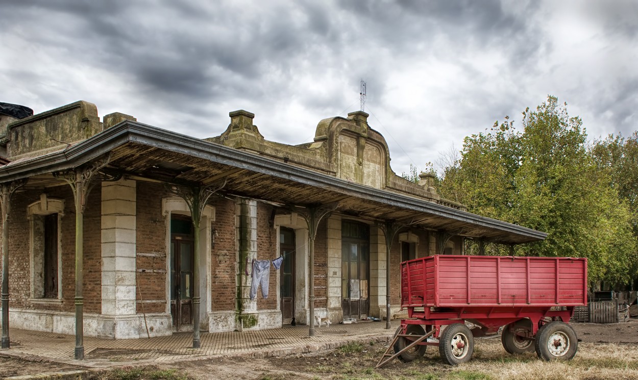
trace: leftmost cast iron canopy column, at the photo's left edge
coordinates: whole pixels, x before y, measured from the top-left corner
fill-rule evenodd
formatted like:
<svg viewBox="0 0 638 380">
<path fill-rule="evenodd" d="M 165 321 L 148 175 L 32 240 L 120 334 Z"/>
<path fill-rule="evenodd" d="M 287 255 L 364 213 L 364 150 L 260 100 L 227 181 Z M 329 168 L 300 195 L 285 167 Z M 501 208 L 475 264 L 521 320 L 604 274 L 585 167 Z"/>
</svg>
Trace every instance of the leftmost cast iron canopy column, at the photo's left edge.
<svg viewBox="0 0 638 380">
<path fill-rule="evenodd" d="M 2 206 L 2 348 L 10 348 L 9 339 L 9 202 L 11 194 L 26 180 L 1 184 Z"/>
</svg>

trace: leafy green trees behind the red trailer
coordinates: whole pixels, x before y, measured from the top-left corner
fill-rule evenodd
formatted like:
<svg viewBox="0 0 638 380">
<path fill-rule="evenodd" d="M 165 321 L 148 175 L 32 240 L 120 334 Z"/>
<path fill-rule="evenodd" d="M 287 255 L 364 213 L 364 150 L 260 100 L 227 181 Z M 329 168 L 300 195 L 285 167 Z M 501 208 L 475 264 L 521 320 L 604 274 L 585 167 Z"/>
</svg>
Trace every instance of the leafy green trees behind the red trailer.
<svg viewBox="0 0 638 380">
<path fill-rule="evenodd" d="M 523 131 L 517 131 L 506 117 L 486 133 L 466 137 L 461 157 L 444 170 L 441 195 L 476 214 L 547 233 L 544 242 L 519 254 L 587 257 L 591 281 L 628 282 L 634 274 L 635 207 L 619 191 L 632 187 L 614 182 L 620 175 L 612 170 L 600 170 L 619 154 L 605 156 L 604 147 L 592 154 L 581 119 L 569 117 L 567 105 L 553 96 L 536 110 L 526 109 L 521 124 Z M 621 145 L 616 140 L 605 142 Z"/>
</svg>

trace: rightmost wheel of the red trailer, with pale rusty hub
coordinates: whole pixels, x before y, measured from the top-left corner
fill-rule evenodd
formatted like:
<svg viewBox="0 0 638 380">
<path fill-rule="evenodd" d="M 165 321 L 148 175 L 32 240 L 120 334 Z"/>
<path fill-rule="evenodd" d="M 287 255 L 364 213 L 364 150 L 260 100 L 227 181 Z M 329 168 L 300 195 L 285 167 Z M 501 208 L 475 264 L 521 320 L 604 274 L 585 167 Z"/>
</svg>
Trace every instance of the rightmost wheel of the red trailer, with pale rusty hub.
<svg viewBox="0 0 638 380">
<path fill-rule="evenodd" d="M 553 321 L 540 326 L 534 340 L 536 354 L 542 360 L 570 360 L 578 351 L 578 339 L 572 326 Z"/>
</svg>

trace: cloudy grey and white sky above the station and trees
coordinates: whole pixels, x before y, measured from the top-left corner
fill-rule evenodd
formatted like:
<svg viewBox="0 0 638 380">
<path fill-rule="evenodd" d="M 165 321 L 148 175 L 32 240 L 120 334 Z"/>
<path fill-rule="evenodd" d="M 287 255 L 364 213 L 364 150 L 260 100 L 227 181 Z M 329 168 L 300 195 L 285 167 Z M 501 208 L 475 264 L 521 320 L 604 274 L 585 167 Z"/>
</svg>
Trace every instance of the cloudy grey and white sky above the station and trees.
<svg viewBox="0 0 638 380">
<path fill-rule="evenodd" d="M 638 130 L 638 1 L 3 0 L 0 101 L 207 138 L 228 112 L 297 145 L 360 109 L 394 172 L 548 95 L 590 140 Z"/>
</svg>

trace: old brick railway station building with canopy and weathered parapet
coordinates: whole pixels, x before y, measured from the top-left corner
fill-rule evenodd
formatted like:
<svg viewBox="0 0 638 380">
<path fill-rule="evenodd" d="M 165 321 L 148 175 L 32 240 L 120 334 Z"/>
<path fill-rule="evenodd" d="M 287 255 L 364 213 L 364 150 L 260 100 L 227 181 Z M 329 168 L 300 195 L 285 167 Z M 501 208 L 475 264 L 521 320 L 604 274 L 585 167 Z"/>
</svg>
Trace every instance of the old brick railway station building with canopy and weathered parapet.
<svg viewBox="0 0 638 380">
<path fill-rule="evenodd" d="M 0 103 L 3 347 L 8 325 L 75 333 L 76 358 L 84 334 L 313 335 L 398 312 L 402 260 L 545 237 L 397 176 L 365 112 L 285 145 L 244 110 L 205 139 L 85 101 L 28 111 Z"/>
</svg>

